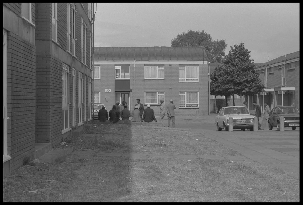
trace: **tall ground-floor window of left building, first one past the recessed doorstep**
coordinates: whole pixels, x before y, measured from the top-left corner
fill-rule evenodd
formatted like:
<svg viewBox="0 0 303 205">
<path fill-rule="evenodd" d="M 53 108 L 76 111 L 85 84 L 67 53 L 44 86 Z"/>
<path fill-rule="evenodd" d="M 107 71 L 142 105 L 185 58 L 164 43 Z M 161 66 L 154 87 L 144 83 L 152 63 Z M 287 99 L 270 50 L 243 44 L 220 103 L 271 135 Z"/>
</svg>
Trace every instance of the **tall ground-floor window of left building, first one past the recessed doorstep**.
<svg viewBox="0 0 303 205">
<path fill-rule="evenodd" d="M 62 122 L 63 131 L 69 129 L 69 67 L 62 65 Z"/>
</svg>

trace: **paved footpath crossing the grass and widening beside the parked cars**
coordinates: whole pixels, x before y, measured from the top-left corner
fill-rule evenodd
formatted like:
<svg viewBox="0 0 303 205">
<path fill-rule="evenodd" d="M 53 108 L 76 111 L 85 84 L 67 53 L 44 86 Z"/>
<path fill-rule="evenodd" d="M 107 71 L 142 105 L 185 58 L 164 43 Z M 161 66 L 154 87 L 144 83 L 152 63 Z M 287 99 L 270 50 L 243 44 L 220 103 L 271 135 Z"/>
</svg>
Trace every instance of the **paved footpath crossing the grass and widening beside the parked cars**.
<svg viewBox="0 0 303 205">
<path fill-rule="evenodd" d="M 285 130 L 280 132 L 277 130 L 262 131 L 241 131 L 234 130 L 217 131 L 214 126 L 214 114 L 210 116 L 200 116 L 200 119 L 193 117 L 176 117 L 176 127 L 186 127 L 190 124 L 191 131 L 201 133 L 206 138 L 215 139 L 220 143 L 238 151 L 242 156 L 221 156 L 221 155 L 146 155 L 136 153 L 106 153 L 97 150 L 65 150 L 66 154 L 76 155 L 79 159 L 91 159 L 94 156 L 129 156 L 132 158 L 141 157 L 157 157 L 168 158 L 175 157 L 179 159 L 195 160 L 195 159 L 230 159 L 233 161 L 256 161 L 265 162 L 269 165 L 281 168 L 291 175 L 300 177 L 300 130 Z M 215 129 L 201 129 L 201 124 L 209 124 Z M 177 126 L 178 125 L 178 126 Z M 172 128 L 169 128 L 172 129 Z M 89 135 L 89 134 L 83 134 Z M 53 150 L 38 158 L 37 162 L 52 162 L 58 156 L 58 152 L 62 150 Z M 72 158 L 72 156 L 70 157 Z"/>
</svg>

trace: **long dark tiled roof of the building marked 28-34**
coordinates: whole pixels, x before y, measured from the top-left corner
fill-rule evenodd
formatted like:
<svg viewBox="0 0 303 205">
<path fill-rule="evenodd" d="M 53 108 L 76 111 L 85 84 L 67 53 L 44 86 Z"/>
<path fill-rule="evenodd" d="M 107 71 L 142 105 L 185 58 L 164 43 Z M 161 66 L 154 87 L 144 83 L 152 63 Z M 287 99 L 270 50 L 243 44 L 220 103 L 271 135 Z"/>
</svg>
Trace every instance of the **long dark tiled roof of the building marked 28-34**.
<svg viewBox="0 0 303 205">
<path fill-rule="evenodd" d="M 208 60 L 204 47 L 94 47 L 94 61 Z"/>
</svg>

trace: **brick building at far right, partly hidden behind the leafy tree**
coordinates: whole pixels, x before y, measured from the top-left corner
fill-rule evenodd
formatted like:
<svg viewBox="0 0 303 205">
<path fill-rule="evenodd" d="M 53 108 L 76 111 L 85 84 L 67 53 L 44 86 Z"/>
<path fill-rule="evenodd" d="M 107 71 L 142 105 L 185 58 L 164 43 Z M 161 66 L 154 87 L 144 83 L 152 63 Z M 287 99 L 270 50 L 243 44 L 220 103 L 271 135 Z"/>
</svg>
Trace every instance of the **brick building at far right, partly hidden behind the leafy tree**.
<svg viewBox="0 0 303 205">
<path fill-rule="evenodd" d="M 270 108 L 281 105 L 300 109 L 300 51 L 263 63 L 257 71 L 266 88 L 265 92 L 250 96 L 251 103 L 257 101 L 262 110 L 264 102 Z"/>
</svg>

